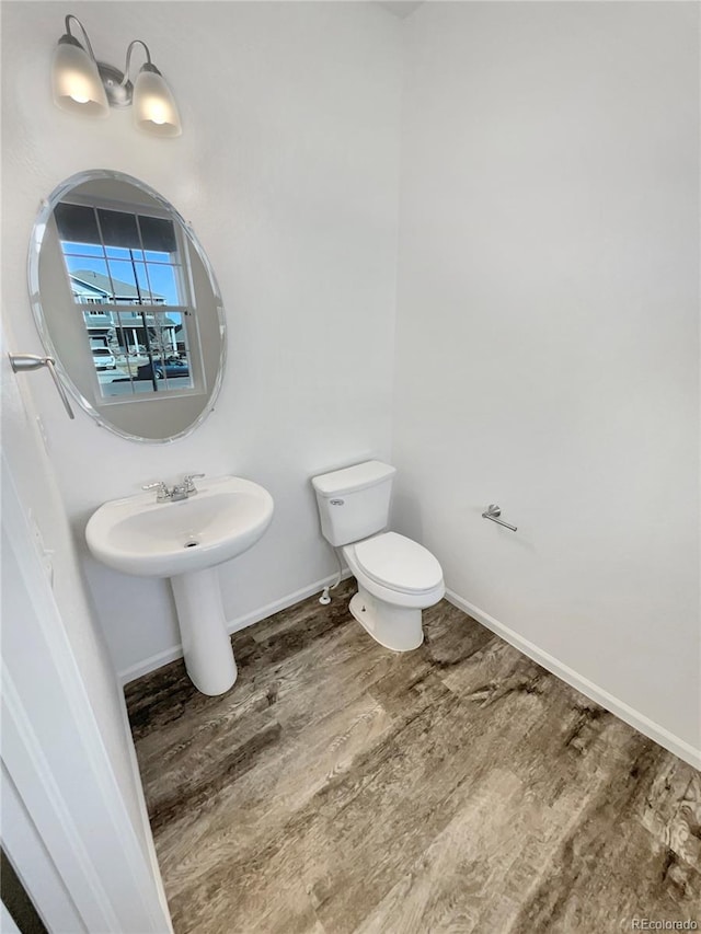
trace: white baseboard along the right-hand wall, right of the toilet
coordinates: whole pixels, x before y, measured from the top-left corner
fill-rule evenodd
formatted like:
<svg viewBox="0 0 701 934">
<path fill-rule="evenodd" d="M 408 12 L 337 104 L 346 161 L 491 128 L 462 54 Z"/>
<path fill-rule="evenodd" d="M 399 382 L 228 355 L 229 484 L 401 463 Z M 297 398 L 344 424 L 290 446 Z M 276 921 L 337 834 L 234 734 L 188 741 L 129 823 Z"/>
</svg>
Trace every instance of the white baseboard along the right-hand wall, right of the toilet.
<svg viewBox="0 0 701 934">
<path fill-rule="evenodd" d="M 644 714 L 633 710 L 633 707 L 629 706 L 623 701 L 614 697 L 613 694 L 609 694 L 608 691 L 599 688 L 598 684 L 589 681 L 588 678 L 584 678 L 582 674 L 578 674 L 573 668 L 563 665 L 552 655 L 543 652 L 537 645 L 533 645 L 532 642 L 529 642 L 527 638 L 524 638 L 524 636 L 514 632 L 514 630 L 505 626 L 504 623 L 499 623 L 499 621 L 495 620 L 494 616 L 490 616 L 489 613 L 480 610 L 479 607 L 470 603 L 469 600 L 464 600 L 452 590 L 446 590 L 446 600 L 452 603 L 453 607 L 466 612 L 469 616 L 475 619 L 479 623 L 482 623 L 482 625 L 486 626 L 487 630 L 496 633 L 496 635 L 501 636 L 505 642 L 513 645 L 519 652 L 522 652 L 524 655 L 527 655 L 533 661 L 542 665 L 543 668 L 547 668 L 548 671 L 556 678 L 560 678 L 562 681 L 565 681 L 572 688 L 589 697 L 590 701 L 595 701 L 597 704 L 600 704 L 607 711 L 614 714 L 617 717 L 620 717 L 644 736 L 654 739 L 655 742 L 659 743 L 659 746 L 664 746 L 665 749 L 668 749 L 675 756 L 678 756 L 679 759 L 683 759 L 685 762 L 693 765 L 694 769 L 701 769 L 701 750 L 694 749 L 693 746 L 686 740 L 680 739 L 668 729 L 665 729 L 665 727 L 659 726 L 659 724 L 656 724 L 648 717 L 644 716 Z"/>
</svg>

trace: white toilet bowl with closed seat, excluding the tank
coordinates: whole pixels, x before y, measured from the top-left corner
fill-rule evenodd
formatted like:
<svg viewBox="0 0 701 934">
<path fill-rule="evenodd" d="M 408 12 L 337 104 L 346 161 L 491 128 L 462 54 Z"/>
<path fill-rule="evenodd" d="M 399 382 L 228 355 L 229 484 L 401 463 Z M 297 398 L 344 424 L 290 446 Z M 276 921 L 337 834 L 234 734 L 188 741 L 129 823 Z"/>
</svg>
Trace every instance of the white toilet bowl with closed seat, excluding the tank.
<svg viewBox="0 0 701 934">
<path fill-rule="evenodd" d="M 345 545 L 343 555 L 358 583 L 348 607 L 354 618 L 386 648 L 418 648 L 424 641 L 422 610 L 446 592 L 434 555 L 397 532 Z"/>
</svg>

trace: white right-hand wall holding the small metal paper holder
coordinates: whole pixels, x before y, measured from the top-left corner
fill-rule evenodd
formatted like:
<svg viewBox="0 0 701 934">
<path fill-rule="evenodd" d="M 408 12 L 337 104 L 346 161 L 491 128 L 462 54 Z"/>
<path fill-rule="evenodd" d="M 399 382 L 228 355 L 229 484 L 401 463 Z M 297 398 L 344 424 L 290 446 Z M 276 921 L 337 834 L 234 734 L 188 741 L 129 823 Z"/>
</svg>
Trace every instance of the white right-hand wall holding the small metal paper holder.
<svg viewBox="0 0 701 934">
<path fill-rule="evenodd" d="M 698 20 L 406 21 L 393 419 L 457 597 L 697 748 Z"/>
</svg>

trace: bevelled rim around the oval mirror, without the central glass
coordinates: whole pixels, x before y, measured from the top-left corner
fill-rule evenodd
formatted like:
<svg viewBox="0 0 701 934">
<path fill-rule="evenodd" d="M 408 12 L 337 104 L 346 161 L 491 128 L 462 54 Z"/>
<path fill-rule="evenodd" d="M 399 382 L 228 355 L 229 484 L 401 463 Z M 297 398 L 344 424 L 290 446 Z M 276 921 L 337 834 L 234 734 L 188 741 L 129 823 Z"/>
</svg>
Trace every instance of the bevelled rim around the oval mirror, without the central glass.
<svg viewBox="0 0 701 934">
<path fill-rule="evenodd" d="M 122 182 L 124 184 L 131 185 L 133 187 L 138 188 L 141 193 L 152 198 L 164 211 L 166 211 L 174 223 L 180 224 L 183 235 L 186 238 L 191 246 L 197 253 L 205 268 L 205 272 L 209 277 L 209 282 L 211 285 L 211 290 L 215 297 L 216 310 L 219 319 L 218 323 L 220 356 L 217 376 L 211 388 L 211 392 L 208 394 L 207 401 L 199 416 L 192 424 L 186 426 L 182 431 L 177 431 L 176 434 L 170 435 L 166 438 L 143 438 L 139 435 L 134 435 L 128 431 L 125 431 L 117 425 L 113 425 L 105 416 L 105 414 L 99 412 L 95 408 L 92 402 L 87 399 L 76 387 L 70 377 L 70 373 L 64 367 L 61 359 L 56 351 L 54 342 L 51 341 L 51 335 L 49 333 L 46 315 L 44 314 L 44 304 L 42 302 L 39 288 L 39 257 L 42 244 L 44 242 L 44 237 L 46 233 L 46 228 L 51 215 L 54 214 L 54 209 L 56 205 L 59 204 L 59 201 L 61 201 L 67 195 L 69 195 L 73 191 L 73 188 L 78 187 L 79 185 L 83 185 L 87 182 L 99 182 L 107 180 L 112 182 Z M 221 302 L 221 293 L 219 291 L 219 286 L 217 284 L 217 278 L 215 276 L 211 264 L 202 244 L 199 243 L 199 240 L 197 239 L 197 235 L 195 234 L 192 226 L 184 220 L 184 218 L 175 210 L 175 208 L 170 204 L 170 201 L 159 195 L 158 192 L 154 192 L 153 188 L 150 187 L 150 185 L 147 185 L 146 183 L 141 182 L 138 178 L 135 178 L 131 175 L 126 175 L 123 172 L 115 172 L 110 169 L 93 169 L 87 170 L 84 172 L 78 172 L 76 175 L 71 175 L 69 178 L 66 178 L 65 182 L 61 182 L 60 185 L 54 188 L 48 198 L 42 201 L 42 207 L 36 217 L 36 220 L 34 221 L 27 256 L 27 278 L 32 314 L 34 315 L 34 323 L 36 324 L 36 328 L 39 333 L 39 337 L 42 339 L 42 344 L 44 345 L 46 354 L 55 358 L 56 370 L 58 371 L 61 382 L 73 396 L 76 402 L 81 406 L 84 412 L 88 413 L 88 415 L 90 415 L 90 417 L 95 422 L 99 427 L 106 428 L 108 431 L 112 431 L 113 434 L 118 435 L 120 438 L 125 438 L 129 441 L 139 441 L 145 445 L 168 445 L 172 441 L 177 440 L 179 438 L 185 438 L 187 437 L 187 435 L 191 435 L 196 428 L 199 427 L 199 425 L 202 425 L 202 423 L 205 420 L 205 418 L 207 418 L 209 413 L 214 411 L 217 396 L 219 395 L 219 391 L 221 389 L 221 382 L 223 380 L 223 372 L 227 360 L 227 322 L 225 318 L 223 305 Z M 138 404 L 138 401 L 133 401 L 130 402 L 130 404 Z"/>
</svg>

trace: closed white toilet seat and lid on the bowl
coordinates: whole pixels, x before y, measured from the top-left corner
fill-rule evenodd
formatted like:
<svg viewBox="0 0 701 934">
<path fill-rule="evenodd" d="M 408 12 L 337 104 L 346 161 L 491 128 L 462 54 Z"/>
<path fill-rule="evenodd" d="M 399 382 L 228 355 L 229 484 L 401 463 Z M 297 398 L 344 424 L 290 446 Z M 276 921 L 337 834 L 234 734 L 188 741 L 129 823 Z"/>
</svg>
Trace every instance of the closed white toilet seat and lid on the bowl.
<svg viewBox="0 0 701 934">
<path fill-rule="evenodd" d="M 359 568 L 370 580 L 401 593 L 425 593 L 443 584 L 436 557 L 418 542 L 384 532 L 354 546 Z"/>
</svg>

